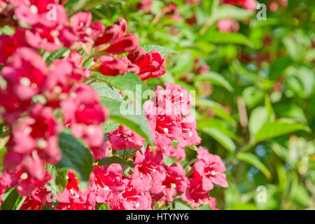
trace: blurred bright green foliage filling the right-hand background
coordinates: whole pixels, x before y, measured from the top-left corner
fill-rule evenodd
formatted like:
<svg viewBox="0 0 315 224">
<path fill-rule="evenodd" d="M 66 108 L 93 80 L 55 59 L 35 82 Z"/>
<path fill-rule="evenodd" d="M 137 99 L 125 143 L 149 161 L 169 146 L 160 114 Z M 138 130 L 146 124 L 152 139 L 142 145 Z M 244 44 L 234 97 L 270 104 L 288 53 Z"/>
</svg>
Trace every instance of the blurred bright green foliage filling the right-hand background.
<svg viewBox="0 0 315 224">
<path fill-rule="evenodd" d="M 148 85 L 176 83 L 195 90 L 195 116 L 202 145 L 221 155 L 229 188 L 215 188 L 220 209 L 315 208 L 315 3 L 288 1 L 286 9 L 258 20 L 219 1 L 187 4 L 153 1 L 151 13 L 139 1 L 106 1 L 92 9 L 110 25 L 124 17 L 141 45 L 162 45 L 178 54 L 167 74 Z M 176 3 L 180 20 L 162 11 Z M 237 33 L 218 31 L 224 18 L 239 21 Z M 199 64 L 210 71 L 196 72 Z M 187 148 L 187 158 L 195 151 Z M 258 186 L 266 200 L 258 202 Z"/>
</svg>

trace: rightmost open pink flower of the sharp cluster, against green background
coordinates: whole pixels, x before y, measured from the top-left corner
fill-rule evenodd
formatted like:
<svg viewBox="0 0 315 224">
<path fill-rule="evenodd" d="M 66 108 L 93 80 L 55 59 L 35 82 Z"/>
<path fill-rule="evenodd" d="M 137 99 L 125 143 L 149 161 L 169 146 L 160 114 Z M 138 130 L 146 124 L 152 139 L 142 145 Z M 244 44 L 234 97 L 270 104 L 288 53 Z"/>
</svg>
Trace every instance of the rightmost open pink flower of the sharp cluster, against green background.
<svg viewBox="0 0 315 224">
<path fill-rule="evenodd" d="M 214 183 L 223 188 L 228 188 L 226 181 L 225 165 L 218 155 L 208 153 L 207 149 L 198 148 L 198 161 L 194 164 L 194 176 L 197 181 L 202 182 L 203 190 L 212 190 Z"/>
</svg>

